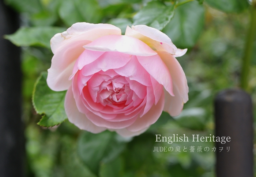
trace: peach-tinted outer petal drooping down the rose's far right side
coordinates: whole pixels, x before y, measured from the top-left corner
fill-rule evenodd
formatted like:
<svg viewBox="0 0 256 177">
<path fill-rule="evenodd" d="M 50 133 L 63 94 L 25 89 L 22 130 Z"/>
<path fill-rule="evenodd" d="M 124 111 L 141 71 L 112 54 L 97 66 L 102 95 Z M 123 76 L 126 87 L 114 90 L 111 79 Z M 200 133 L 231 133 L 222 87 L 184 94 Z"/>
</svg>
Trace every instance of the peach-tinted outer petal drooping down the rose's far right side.
<svg viewBox="0 0 256 177">
<path fill-rule="evenodd" d="M 188 101 L 187 79 L 176 58 L 167 52 L 158 52 L 158 55 L 162 58 L 172 75 L 173 93 L 175 95 L 175 97 L 172 97 L 165 92 L 166 103 L 163 110 L 172 116 L 177 116 L 181 113 L 184 103 Z"/>
</svg>

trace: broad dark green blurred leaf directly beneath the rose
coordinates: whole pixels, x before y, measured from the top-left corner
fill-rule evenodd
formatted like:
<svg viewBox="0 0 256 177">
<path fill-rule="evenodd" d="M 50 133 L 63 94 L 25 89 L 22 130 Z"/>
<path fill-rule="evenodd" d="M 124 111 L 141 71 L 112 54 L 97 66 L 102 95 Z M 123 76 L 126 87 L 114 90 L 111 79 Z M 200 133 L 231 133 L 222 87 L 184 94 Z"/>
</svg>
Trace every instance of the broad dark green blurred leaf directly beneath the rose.
<svg viewBox="0 0 256 177">
<path fill-rule="evenodd" d="M 120 136 L 114 132 L 103 131 L 99 134 L 84 132 L 78 140 L 78 155 L 92 172 L 98 173 L 99 164 L 112 161 L 125 147 Z"/>
</svg>

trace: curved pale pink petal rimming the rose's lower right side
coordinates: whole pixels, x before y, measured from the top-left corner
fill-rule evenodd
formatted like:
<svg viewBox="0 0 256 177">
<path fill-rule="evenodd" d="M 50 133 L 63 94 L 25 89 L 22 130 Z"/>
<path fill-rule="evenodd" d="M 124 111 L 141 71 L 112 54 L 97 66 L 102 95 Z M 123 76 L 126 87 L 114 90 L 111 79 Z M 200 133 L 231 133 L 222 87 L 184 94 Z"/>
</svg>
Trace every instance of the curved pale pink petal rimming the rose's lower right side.
<svg viewBox="0 0 256 177">
<path fill-rule="evenodd" d="M 153 105 L 145 115 L 136 119 L 136 121 L 126 129 L 129 131 L 139 131 L 152 125 L 158 120 L 158 118 L 162 114 L 164 104 L 165 96 L 164 93 L 162 92 L 161 98 L 159 99 L 157 105 Z"/>
</svg>

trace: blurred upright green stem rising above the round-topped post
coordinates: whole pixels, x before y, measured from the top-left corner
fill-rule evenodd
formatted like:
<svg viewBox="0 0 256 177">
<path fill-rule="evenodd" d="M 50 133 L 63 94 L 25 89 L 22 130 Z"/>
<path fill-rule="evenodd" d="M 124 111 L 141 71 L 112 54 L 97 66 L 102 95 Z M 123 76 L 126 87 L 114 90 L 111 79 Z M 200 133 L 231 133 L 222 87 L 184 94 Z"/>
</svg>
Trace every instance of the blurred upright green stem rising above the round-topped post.
<svg viewBox="0 0 256 177">
<path fill-rule="evenodd" d="M 244 57 L 242 59 L 242 71 L 241 71 L 241 88 L 248 91 L 248 76 L 249 68 L 251 64 L 251 58 L 253 54 L 253 42 L 256 37 L 256 3 L 251 7 L 251 22 L 246 37 Z"/>
</svg>

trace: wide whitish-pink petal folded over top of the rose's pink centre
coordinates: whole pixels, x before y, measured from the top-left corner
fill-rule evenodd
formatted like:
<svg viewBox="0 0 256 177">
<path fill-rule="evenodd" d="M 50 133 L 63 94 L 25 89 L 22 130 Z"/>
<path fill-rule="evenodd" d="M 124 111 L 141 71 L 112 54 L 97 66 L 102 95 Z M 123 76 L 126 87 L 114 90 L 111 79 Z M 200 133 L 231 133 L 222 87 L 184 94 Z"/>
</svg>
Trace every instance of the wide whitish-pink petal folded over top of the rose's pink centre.
<svg viewBox="0 0 256 177">
<path fill-rule="evenodd" d="M 151 56 L 157 54 L 141 40 L 124 35 L 103 36 L 83 47 L 92 51 L 116 51 L 139 56 Z"/>
</svg>

